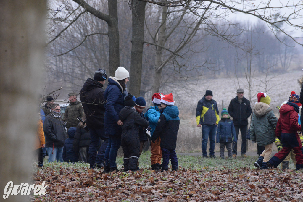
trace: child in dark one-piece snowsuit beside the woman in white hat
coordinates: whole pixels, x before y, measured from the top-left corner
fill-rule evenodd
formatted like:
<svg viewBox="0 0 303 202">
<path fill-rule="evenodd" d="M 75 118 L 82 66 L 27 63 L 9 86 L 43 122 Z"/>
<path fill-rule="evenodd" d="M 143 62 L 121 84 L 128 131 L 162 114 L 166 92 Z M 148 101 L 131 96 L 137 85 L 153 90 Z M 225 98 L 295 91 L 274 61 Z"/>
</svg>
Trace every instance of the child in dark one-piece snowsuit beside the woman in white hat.
<svg viewBox="0 0 303 202">
<path fill-rule="evenodd" d="M 147 128 L 149 123 L 135 110 L 135 102 L 128 95 L 124 100 L 124 108 L 119 113 L 123 122 L 121 146 L 124 153 L 124 171 L 136 171 L 140 156 L 139 128 Z"/>
</svg>

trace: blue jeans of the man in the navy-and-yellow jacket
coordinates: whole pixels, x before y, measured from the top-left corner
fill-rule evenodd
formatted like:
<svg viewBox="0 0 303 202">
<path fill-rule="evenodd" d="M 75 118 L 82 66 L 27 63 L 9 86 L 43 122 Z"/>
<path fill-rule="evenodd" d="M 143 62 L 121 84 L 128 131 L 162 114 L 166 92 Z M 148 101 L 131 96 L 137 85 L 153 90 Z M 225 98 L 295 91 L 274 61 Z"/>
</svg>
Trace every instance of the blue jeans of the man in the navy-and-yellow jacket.
<svg viewBox="0 0 303 202">
<path fill-rule="evenodd" d="M 206 145 L 209 136 L 209 155 L 215 155 L 215 144 L 216 144 L 216 125 L 202 125 L 202 155 L 207 156 Z M 163 155 L 163 154 L 162 154 Z"/>
</svg>

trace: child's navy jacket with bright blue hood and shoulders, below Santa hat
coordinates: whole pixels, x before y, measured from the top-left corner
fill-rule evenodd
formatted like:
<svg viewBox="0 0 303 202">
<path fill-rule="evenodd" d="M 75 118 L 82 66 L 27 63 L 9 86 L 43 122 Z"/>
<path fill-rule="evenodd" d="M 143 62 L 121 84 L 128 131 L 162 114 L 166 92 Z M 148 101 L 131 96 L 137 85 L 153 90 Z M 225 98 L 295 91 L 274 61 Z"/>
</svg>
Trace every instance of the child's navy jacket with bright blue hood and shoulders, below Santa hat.
<svg viewBox="0 0 303 202">
<path fill-rule="evenodd" d="M 160 147 L 174 150 L 176 149 L 177 136 L 180 125 L 179 110 L 175 105 L 165 107 L 160 115 L 155 132 L 151 140 L 155 142 L 160 136 Z"/>
</svg>

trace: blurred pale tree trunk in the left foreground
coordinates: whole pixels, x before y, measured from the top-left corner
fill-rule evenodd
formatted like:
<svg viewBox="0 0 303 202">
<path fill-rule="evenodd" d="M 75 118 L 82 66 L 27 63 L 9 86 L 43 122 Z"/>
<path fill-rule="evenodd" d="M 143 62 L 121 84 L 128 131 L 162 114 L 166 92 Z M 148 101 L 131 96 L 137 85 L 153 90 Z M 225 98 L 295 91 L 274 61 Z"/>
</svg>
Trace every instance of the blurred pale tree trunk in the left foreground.
<svg viewBox="0 0 303 202">
<path fill-rule="evenodd" d="M 32 144 L 37 136 L 37 90 L 43 67 L 45 13 L 45 0 L 0 3 L 1 198 L 9 181 L 32 184 Z M 28 200 L 18 194 L 5 201 Z"/>
</svg>

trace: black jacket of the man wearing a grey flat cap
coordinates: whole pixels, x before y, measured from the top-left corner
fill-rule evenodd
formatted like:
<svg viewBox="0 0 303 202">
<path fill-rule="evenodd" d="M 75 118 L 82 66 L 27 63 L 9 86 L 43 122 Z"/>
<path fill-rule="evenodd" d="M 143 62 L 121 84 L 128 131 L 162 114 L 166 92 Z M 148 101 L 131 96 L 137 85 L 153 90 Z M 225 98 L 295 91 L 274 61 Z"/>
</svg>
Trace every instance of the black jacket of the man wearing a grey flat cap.
<svg viewBox="0 0 303 202">
<path fill-rule="evenodd" d="M 228 106 L 228 114 L 232 117 L 234 125 L 248 125 L 247 118 L 251 115 L 251 106 L 248 99 L 243 97 L 243 100 L 240 104 L 238 101 L 238 96 L 232 99 Z"/>
</svg>

